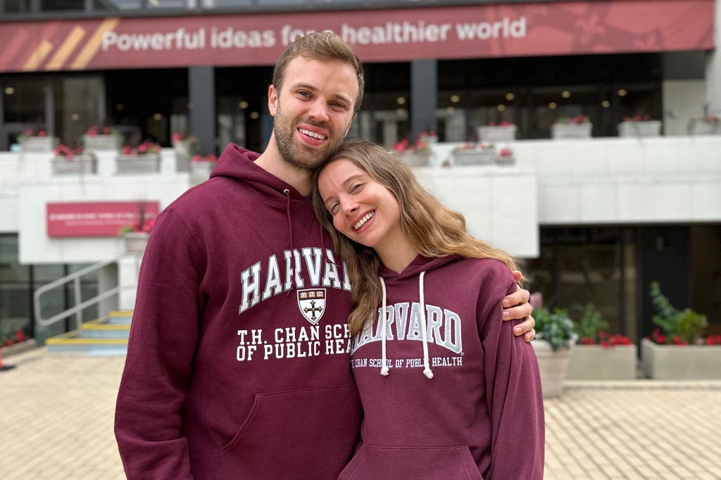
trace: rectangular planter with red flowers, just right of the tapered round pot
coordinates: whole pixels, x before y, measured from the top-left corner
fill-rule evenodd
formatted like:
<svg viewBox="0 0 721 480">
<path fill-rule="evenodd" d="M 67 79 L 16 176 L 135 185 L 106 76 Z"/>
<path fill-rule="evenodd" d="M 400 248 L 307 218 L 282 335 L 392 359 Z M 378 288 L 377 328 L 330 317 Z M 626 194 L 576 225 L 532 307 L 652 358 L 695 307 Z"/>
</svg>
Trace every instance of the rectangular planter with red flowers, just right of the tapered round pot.
<svg viewBox="0 0 721 480">
<path fill-rule="evenodd" d="M 593 303 L 574 322 L 578 341 L 571 350 L 566 378 L 632 380 L 636 378 L 636 345 L 629 337 L 609 333 L 609 322 Z"/>
</svg>

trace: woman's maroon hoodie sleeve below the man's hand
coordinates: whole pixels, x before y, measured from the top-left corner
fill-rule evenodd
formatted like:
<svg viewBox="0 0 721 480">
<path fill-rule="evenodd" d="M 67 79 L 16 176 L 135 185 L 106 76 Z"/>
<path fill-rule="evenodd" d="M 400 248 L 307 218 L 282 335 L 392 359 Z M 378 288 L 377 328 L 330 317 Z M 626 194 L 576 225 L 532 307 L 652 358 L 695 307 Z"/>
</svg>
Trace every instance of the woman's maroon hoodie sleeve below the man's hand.
<svg viewBox="0 0 721 480">
<path fill-rule="evenodd" d="M 505 271 L 504 271 L 505 269 Z M 513 335 L 519 321 L 503 321 L 503 297 L 516 290 L 510 270 L 492 270 L 482 324 L 486 400 L 491 416 L 491 465 L 488 479 L 542 480 L 544 409 L 536 354 Z"/>
</svg>

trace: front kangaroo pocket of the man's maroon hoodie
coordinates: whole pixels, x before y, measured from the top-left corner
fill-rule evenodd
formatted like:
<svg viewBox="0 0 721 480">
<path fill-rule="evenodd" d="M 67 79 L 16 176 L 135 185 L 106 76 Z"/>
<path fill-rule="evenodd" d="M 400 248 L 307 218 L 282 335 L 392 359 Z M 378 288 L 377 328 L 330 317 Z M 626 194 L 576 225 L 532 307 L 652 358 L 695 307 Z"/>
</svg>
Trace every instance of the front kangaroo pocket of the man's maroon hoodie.
<svg viewBox="0 0 721 480">
<path fill-rule="evenodd" d="M 361 422 L 355 383 L 257 394 L 216 479 L 335 479 L 353 453 Z"/>
</svg>

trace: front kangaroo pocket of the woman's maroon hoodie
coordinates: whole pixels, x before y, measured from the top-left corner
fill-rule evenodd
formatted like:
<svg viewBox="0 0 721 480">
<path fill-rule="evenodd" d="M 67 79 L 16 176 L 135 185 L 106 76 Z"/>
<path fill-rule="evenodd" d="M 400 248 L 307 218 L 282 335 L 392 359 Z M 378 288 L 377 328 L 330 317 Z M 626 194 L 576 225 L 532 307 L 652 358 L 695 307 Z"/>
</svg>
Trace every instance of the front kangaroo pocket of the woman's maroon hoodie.
<svg viewBox="0 0 721 480">
<path fill-rule="evenodd" d="M 338 480 L 483 480 L 471 450 L 457 447 L 374 447 L 363 443 Z"/>
</svg>

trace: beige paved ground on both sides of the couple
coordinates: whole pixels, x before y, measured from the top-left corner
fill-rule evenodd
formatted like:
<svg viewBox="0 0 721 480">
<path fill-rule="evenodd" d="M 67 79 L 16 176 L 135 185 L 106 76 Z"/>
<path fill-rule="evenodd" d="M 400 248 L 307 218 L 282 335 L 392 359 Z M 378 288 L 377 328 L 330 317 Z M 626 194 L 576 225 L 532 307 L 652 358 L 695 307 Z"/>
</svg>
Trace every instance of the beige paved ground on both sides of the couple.
<svg viewBox="0 0 721 480">
<path fill-rule="evenodd" d="M 0 373 L 0 479 L 124 479 L 112 432 L 123 361 L 6 358 L 17 368 Z M 721 381 L 568 382 L 546 423 L 548 480 L 721 480 Z"/>
</svg>

